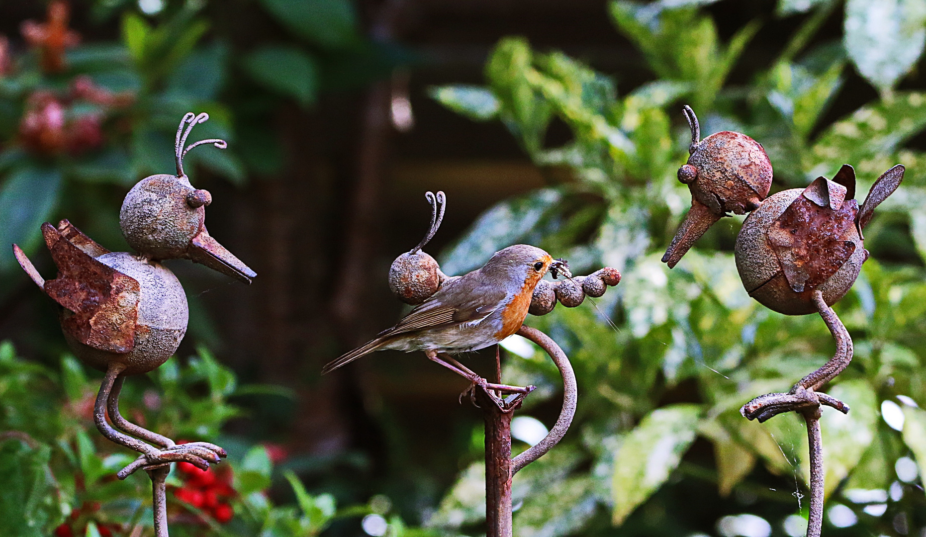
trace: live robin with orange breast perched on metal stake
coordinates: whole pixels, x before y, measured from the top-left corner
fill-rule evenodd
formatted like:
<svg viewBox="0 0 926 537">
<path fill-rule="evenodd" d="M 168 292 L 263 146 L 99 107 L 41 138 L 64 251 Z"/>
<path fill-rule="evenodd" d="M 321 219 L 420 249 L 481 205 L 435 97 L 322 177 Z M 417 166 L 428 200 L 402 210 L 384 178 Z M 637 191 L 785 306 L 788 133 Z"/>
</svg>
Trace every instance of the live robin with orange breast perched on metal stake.
<svg viewBox="0 0 926 537">
<path fill-rule="evenodd" d="M 478 351 L 519 331 L 531 306 L 533 289 L 547 270 L 569 274 L 564 261 L 540 248 L 508 246 L 495 252 L 482 268 L 445 281 L 393 328 L 333 360 L 321 372 L 330 373 L 382 349 L 422 350 L 432 361 L 474 384 L 493 387 L 449 355 Z"/>
</svg>

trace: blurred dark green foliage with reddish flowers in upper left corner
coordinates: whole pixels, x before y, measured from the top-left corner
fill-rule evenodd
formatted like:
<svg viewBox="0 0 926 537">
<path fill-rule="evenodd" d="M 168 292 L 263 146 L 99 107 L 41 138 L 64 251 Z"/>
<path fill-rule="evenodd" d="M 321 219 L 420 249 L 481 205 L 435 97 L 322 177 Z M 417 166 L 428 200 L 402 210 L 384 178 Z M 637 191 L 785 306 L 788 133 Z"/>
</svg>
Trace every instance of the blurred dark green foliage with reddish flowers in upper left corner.
<svg viewBox="0 0 926 537">
<path fill-rule="evenodd" d="M 240 184 L 281 169 L 268 119 L 282 102 L 311 106 L 319 92 L 362 87 L 412 59 L 366 37 L 349 0 L 263 0 L 259 8 L 285 31 L 273 44 L 244 48 L 235 39 L 240 29 L 214 25 L 202 0 L 91 4 L 97 24 L 119 21 L 119 41 L 58 49 L 24 33 L 31 46 L 22 53 L 6 40 L 0 46 L 0 244 L 20 244 L 27 254 L 40 244 L 38 226 L 61 215 L 92 214 L 84 231 L 101 244 L 123 244 L 120 193 L 173 171 L 184 113 L 207 112 L 211 120 L 195 135 L 230 143 L 191 153 L 186 168 Z M 31 24 L 73 34 L 67 21 L 57 30 Z M 0 275 L 15 269 L 5 248 Z M 9 280 L 0 278 L 0 296 Z"/>
</svg>

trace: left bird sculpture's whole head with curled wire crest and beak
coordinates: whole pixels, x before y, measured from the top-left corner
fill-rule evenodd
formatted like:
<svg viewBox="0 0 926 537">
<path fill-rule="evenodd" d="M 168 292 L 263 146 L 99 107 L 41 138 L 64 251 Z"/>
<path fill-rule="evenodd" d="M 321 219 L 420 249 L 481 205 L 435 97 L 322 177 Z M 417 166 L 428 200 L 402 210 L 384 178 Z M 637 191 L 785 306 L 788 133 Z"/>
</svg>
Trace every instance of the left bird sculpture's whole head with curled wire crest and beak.
<svg viewBox="0 0 926 537">
<path fill-rule="evenodd" d="M 152 175 L 138 181 L 126 194 L 119 211 L 119 225 L 126 241 L 151 259 L 191 259 L 238 280 L 250 283 L 257 276 L 206 231 L 206 206 L 212 195 L 194 189 L 183 173 L 183 156 L 200 144 L 226 146 L 221 140 L 203 140 L 183 148 L 186 137 L 206 114 L 184 116 L 177 131 L 177 175 Z M 184 124 L 189 123 L 182 133 Z"/>
</svg>

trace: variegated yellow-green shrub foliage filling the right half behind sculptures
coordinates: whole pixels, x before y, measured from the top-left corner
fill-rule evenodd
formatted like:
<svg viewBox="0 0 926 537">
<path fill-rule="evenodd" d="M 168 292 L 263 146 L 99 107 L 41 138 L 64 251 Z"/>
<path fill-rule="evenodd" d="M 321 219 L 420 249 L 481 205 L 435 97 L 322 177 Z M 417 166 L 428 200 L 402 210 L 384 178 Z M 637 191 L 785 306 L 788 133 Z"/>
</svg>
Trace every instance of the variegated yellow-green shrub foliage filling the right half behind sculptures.
<svg viewBox="0 0 926 537">
<path fill-rule="evenodd" d="M 444 271 L 477 268 L 495 250 L 525 242 L 567 257 L 576 273 L 602 265 L 623 273 L 596 303 L 528 321 L 569 354 L 581 395 L 573 432 L 515 478 L 523 502 L 515 535 L 610 535 L 615 526 L 622 535 L 803 535 L 804 425 L 793 415 L 760 425 L 739 408 L 819 367 L 832 337 L 817 316 L 785 317 L 745 293 L 731 252 L 742 217 L 723 219 L 677 268 L 660 263 L 690 199 L 676 180 L 689 143 L 682 103 L 694 106 L 703 135 L 743 131 L 763 144 L 774 189 L 832 177 L 848 163 L 864 193 L 884 170 L 907 166 L 866 232 L 872 258 L 836 306 L 855 359 L 828 393 L 852 410 L 824 410 L 822 431 L 832 514 L 824 531 L 913 534 L 926 522 L 926 497 L 917 472 L 899 468 L 912 458 L 926 470 L 926 413 L 917 406 L 926 405 L 926 154 L 907 142 L 926 129 L 926 94 L 894 88 L 921 56 L 926 2 L 849 0 L 843 42 L 808 47 L 840 3 L 781 0 L 779 15 L 805 14 L 801 25 L 745 87 L 726 78 L 757 23 L 722 43 L 701 8 L 711 3 L 610 3 L 617 29 L 656 77 L 626 94 L 611 76 L 518 37 L 497 44 L 485 86 L 432 89 L 470 119 L 501 121 L 534 163 L 572 178 L 490 208 L 444 253 Z M 849 64 L 880 96 L 821 123 Z M 544 144 L 554 121 L 569 127 L 569 143 Z M 525 411 L 557 404 L 557 371 L 539 350 L 511 354 L 505 377 L 540 387 Z M 699 442 L 710 449 L 694 450 Z M 454 535 L 481 522 L 482 468 L 461 473 L 428 526 Z M 721 509 L 729 516 L 682 518 L 706 481 L 716 493 L 700 495 L 730 498 Z"/>
</svg>

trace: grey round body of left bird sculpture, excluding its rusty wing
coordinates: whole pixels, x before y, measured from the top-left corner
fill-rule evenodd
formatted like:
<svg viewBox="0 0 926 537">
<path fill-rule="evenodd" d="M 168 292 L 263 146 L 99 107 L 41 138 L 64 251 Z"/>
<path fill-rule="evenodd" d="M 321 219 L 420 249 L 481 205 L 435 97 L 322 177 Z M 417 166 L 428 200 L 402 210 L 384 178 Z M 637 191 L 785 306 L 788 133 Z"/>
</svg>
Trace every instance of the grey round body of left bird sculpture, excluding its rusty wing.
<svg viewBox="0 0 926 537">
<path fill-rule="evenodd" d="M 189 319 L 186 294 L 177 277 L 160 263 L 145 262 L 139 256 L 115 252 L 96 257 L 107 267 L 130 276 L 139 285 L 138 319 L 134 347 L 119 354 L 94 349 L 78 342 L 65 331 L 74 355 L 93 368 L 105 371 L 110 363 L 126 366 L 124 374 L 151 371 L 174 354 L 180 346 Z M 63 317 L 73 315 L 62 308 Z"/>
</svg>

